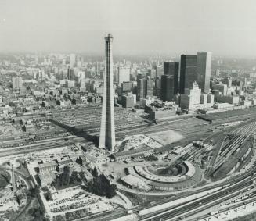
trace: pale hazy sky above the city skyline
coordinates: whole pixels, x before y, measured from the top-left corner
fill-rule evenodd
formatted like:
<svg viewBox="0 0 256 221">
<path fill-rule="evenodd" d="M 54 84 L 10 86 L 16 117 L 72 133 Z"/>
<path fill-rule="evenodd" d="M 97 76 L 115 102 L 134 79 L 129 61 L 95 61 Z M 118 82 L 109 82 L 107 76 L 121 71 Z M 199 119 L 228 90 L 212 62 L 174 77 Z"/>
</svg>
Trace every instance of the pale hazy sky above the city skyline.
<svg viewBox="0 0 256 221">
<path fill-rule="evenodd" d="M 0 52 L 256 55 L 255 0 L 0 0 Z"/>
</svg>

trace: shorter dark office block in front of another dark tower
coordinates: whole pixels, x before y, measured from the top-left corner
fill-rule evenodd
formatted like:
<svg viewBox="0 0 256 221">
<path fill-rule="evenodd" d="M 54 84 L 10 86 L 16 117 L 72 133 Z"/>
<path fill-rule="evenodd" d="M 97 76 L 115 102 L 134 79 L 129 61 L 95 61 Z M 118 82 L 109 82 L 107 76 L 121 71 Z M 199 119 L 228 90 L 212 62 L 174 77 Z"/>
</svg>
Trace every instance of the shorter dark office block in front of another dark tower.
<svg viewBox="0 0 256 221">
<path fill-rule="evenodd" d="M 170 102 L 174 98 L 174 77 L 171 75 L 161 76 L 161 100 Z"/>
</svg>

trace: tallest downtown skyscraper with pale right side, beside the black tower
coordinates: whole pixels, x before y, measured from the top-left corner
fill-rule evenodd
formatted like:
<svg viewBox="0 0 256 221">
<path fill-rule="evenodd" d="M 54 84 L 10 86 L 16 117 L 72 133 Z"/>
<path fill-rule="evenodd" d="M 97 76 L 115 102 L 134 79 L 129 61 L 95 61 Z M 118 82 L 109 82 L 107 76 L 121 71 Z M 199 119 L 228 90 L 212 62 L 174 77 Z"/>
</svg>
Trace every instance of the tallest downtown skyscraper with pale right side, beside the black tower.
<svg viewBox="0 0 256 221">
<path fill-rule="evenodd" d="M 211 52 L 197 52 L 197 83 L 203 93 L 210 91 Z"/>
</svg>

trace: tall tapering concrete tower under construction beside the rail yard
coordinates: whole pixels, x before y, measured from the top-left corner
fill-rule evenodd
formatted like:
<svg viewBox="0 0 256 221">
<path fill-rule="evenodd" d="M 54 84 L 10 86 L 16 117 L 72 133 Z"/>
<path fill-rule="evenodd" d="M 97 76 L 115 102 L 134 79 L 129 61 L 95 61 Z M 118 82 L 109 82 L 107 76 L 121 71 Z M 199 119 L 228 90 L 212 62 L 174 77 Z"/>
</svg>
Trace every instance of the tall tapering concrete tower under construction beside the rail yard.
<svg viewBox="0 0 256 221">
<path fill-rule="evenodd" d="M 114 151 L 114 85 L 113 85 L 113 37 L 108 34 L 105 37 L 105 75 L 103 87 L 103 112 L 100 125 L 99 148 L 107 148 Z"/>
</svg>

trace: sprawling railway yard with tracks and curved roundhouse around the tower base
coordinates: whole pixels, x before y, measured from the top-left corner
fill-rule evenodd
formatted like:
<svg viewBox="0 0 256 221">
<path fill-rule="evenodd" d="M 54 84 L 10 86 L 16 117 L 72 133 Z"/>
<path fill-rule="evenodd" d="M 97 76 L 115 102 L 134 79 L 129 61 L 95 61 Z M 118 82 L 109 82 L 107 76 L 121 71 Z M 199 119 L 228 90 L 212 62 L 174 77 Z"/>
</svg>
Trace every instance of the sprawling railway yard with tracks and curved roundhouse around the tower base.
<svg viewBox="0 0 256 221">
<path fill-rule="evenodd" d="M 79 110 L 77 115 L 70 111 L 35 115 L 31 131 L 5 121 L 2 128 L 15 127 L 16 133 L 0 136 L 1 162 L 79 144 L 84 147 L 80 154 L 130 201 L 125 209 L 113 211 L 114 205 L 109 207 L 112 213 L 92 220 L 215 219 L 256 201 L 255 110 L 208 114 L 211 122 L 197 114 L 153 122 L 144 113 L 117 109 L 114 154 L 96 148 L 99 122 L 87 120 L 97 113 L 95 109 L 87 114 Z M 170 139 L 169 134 L 178 138 Z M 155 200 L 140 200 L 153 196 Z"/>
</svg>

